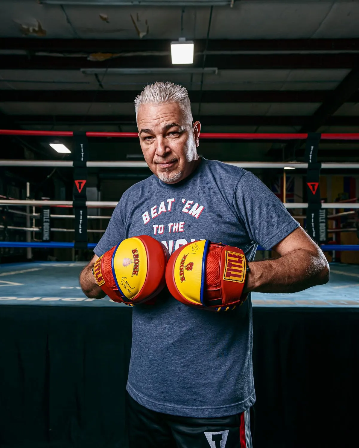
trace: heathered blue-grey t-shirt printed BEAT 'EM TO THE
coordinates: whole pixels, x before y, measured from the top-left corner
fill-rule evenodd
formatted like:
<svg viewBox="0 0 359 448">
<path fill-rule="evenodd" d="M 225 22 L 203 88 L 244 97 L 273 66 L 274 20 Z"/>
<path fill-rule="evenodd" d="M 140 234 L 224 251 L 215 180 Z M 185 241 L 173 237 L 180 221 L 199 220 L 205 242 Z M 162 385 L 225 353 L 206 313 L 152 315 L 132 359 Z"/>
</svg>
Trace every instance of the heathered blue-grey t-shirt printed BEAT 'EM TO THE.
<svg viewBox="0 0 359 448">
<path fill-rule="evenodd" d="M 299 226 L 251 172 L 202 158 L 184 181 L 151 176 L 129 188 L 94 249 L 101 256 L 124 238 L 150 235 L 170 254 L 209 239 L 243 249 L 270 249 Z M 127 391 L 154 411 L 187 417 L 237 414 L 255 401 L 250 297 L 233 311 L 197 310 L 169 293 L 132 313 Z"/>
</svg>

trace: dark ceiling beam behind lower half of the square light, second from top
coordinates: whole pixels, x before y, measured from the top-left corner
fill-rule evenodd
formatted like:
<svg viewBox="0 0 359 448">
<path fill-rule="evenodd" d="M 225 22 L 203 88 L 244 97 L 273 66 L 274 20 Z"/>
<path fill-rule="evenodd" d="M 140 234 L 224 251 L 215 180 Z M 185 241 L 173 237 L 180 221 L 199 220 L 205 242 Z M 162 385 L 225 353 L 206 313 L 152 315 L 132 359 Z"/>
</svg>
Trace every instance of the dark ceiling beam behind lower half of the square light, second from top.
<svg viewBox="0 0 359 448">
<path fill-rule="evenodd" d="M 223 51 L 223 49 L 222 49 Z M 357 53 L 317 54 L 208 54 L 206 67 L 219 70 L 239 69 L 351 69 Z M 203 58 L 197 55 L 192 67 L 202 68 Z M 118 56 L 102 62 L 79 56 L 2 55 L 2 69 L 79 70 L 97 68 L 168 68 L 170 54 L 164 56 Z M 186 66 L 188 67 L 188 66 Z"/>
</svg>

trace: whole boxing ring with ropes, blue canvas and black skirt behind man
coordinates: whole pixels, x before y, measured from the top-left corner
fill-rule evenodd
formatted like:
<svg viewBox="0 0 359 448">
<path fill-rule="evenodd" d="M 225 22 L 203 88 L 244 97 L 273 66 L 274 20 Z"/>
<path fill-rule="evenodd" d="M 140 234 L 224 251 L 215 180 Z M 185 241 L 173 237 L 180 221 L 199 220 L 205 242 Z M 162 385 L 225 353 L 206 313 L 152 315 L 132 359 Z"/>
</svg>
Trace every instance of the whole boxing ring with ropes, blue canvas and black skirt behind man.
<svg viewBox="0 0 359 448">
<path fill-rule="evenodd" d="M 0 134 L 12 133 L 72 136 L 70 132 L 0 130 Z M 86 134 L 88 138 L 137 137 L 135 133 Z M 201 134 L 201 138 L 290 140 L 311 136 Z M 359 134 L 321 134 L 320 138 L 359 140 Z M 320 168 L 313 167 L 313 163 L 232 162 L 249 169 L 293 165 L 302 170 L 359 168 L 354 163 L 322 163 Z M 63 160 L 1 160 L 0 164 L 74 167 L 72 161 Z M 144 162 L 87 160 L 85 165 L 131 169 L 142 168 Z M 293 213 L 312 207 L 328 211 L 329 219 L 337 219 L 337 215 L 355 215 L 359 211 L 358 200 L 353 199 L 320 205 L 311 201 L 284 202 Z M 76 207 L 105 208 L 101 218 L 108 222 L 117 203 L 84 202 L 79 207 L 79 198 L 75 197 L 73 201 L 0 198 L 0 207 L 11 207 L 10 213 L 28 216 L 29 225 L 22 231 L 31 240 L 0 241 L 0 247 L 91 250 L 95 243 L 80 241 L 78 245 L 76 235 L 73 242 L 35 241 L 43 236 L 44 207 L 53 217 L 61 216 L 61 210 L 66 208 L 74 210 L 70 215 L 74 228 L 53 227 L 52 235 L 57 236 L 61 232 L 76 233 Z M 23 211 L 24 207 L 28 207 L 27 211 Z M 88 219 L 97 220 L 99 216 L 88 215 Z M 340 229 L 334 230 L 333 235 L 340 233 Z M 101 237 L 99 230 L 93 234 Z M 333 254 L 359 249 L 357 244 L 341 245 L 337 241 L 318 244 Z M 78 284 L 84 264 L 0 264 L 1 447 L 127 446 L 124 393 L 132 310 L 108 297 L 85 297 Z M 326 285 L 294 294 L 252 293 L 256 447 L 316 448 L 333 444 L 334 438 L 338 443 L 356 439 L 352 409 L 356 409 L 359 399 L 359 265 L 330 263 L 330 268 L 331 278 Z"/>
</svg>

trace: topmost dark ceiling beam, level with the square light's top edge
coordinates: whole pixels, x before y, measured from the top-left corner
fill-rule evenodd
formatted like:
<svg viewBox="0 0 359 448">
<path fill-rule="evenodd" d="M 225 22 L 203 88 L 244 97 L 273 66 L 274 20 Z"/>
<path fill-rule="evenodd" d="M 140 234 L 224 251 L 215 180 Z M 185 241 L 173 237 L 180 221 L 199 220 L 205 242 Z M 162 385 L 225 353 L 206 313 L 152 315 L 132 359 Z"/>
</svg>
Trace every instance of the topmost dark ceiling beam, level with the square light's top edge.
<svg viewBox="0 0 359 448">
<path fill-rule="evenodd" d="M 0 38 L 2 50 L 28 52 L 131 52 L 169 51 L 168 39 L 39 39 Z M 206 39 L 195 39 L 203 52 Z M 209 39 L 207 51 L 359 51 L 359 39 Z"/>
</svg>

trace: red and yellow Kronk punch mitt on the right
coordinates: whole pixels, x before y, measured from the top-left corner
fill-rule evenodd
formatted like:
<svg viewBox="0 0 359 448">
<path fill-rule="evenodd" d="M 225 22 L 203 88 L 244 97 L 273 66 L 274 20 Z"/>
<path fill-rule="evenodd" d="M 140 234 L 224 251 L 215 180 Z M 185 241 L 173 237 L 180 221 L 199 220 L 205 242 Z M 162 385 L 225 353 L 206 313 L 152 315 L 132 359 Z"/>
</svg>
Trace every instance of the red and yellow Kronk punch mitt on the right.
<svg viewBox="0 0 359 448">
<path fill-rule="evenodd" d="M 247 298 L 243 294 L 246 267 L 245 255 L 238 247 L 195 241 L 171 255 L 166 284 L 172 296 L 185 305 L 233 310 Z"/>
</svg>

